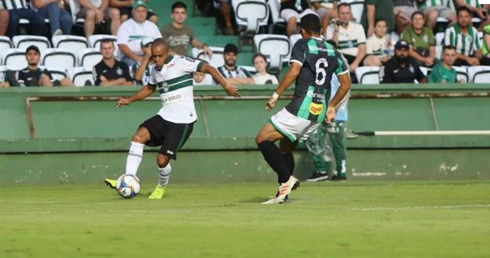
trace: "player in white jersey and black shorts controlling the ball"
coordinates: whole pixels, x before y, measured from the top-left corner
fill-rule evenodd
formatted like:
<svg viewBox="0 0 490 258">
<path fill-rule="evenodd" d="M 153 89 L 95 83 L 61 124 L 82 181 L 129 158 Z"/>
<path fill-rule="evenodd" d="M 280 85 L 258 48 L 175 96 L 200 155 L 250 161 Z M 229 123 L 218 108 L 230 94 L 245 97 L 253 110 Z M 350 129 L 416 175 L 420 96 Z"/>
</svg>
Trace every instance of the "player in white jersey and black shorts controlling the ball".
<svg viewBox="0 0 490 258">
<path fill-rule="evenodd" d="M 143 147 L 161 146 L 157 155 L 158 185 L 150 199 L 161 199 L 166 191 L 172 168 L 170 159 L 176 159 L 177 151 L 185 144 L 197 119 L 194 108 L 192 72 L 201 71 L 211 74 L 228 95 L 238 96 L 238 89 L 229 85 L 216 68 L 188 57 L 170 55 L 170 48 L 164 39 L 152 43 L 152 68 L 150 82 L 132 97 L 121 97 L 117 107 L 148 97 L 158 90 L 162 108 L 156 116 L 144 121 L 133 135 L 126 173 L 135 175 L 143 157 Z M 111 188 L 115 180 L 105 179 Z"/>
</svg>

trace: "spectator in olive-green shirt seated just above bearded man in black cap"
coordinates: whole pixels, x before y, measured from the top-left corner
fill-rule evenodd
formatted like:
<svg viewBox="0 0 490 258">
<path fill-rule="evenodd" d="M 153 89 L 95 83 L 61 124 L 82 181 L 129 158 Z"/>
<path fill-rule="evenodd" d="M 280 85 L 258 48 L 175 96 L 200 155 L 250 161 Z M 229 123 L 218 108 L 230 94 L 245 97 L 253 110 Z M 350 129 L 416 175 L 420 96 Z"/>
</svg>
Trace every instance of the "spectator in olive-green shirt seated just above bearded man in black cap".
<svg viewBox="0 0 490 258">
<path fill-rule="evenodd" d="M 416 11 L 411 17 L 412 25 L 402 33 L 402 39 L 410 44 L 409 56 L 420 66 L 432 67 L 435 62 L 435 38 L 432 30 L 424 26 L 424 14 Z"/>
</svg>

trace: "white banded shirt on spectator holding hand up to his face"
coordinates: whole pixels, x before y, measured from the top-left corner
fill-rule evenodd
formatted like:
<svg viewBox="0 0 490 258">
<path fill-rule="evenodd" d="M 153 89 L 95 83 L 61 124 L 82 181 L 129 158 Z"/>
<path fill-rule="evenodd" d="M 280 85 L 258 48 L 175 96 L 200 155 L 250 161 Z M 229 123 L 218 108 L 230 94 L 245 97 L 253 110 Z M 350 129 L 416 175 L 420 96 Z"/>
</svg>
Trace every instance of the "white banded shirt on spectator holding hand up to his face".
<svg viewBox="0 0 490 258">
<path fill-rule="evenodd" d="M 327 40 L 332 39 L 334 30 L 334 24 L 330 24 L 330 26 L 327 27 Z M 359 52 L 357 46 L 366 43 L 364 28 L 357 22 L 349 21 L 347 29 L 339 26 L 337 40 L 337 50 L 339 53 L 356 57 Z"/>
</svg>

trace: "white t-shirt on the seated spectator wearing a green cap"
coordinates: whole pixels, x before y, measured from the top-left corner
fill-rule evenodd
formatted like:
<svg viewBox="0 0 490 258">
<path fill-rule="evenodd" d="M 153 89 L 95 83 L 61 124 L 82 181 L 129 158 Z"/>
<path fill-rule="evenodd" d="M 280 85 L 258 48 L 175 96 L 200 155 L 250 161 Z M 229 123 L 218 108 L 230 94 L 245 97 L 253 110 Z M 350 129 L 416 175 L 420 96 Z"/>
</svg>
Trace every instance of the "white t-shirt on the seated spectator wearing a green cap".
<svg viewBox="0 0 490 258">
<path fill-rule="evenodd" d="M 136 55 L 142 55 L 141 41 L 144 38 L 157 39 L 161 38 L 162 34 L 158 30 L 155 23 L 145 20 L 143 23 L 138 23 L 134 19 L 129 19 L 117 30 L 117 44 L 126 44 L 129 49 Z M 118 51 L 118 57 L 122 58 L 121 51 Z"/>
</svg>

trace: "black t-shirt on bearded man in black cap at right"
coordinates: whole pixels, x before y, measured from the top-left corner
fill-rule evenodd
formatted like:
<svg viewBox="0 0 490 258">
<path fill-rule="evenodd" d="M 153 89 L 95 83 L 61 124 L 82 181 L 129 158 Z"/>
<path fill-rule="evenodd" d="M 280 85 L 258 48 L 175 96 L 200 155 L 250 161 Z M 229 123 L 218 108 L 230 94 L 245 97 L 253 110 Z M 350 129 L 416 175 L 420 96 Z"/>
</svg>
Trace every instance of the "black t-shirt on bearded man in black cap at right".
<svg viewBox="0 0 490 258">
<path fill-rule="evenodd" d="M 419 65 L 411 58 L 408 58 L 405 67 L 402 67 L 395 57 L 392 57 L 379 69 L 380 83 L 413 83 L 415 79 L 420 82 L 424 78 L 426 76 Z"/>
</svg>

